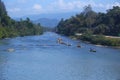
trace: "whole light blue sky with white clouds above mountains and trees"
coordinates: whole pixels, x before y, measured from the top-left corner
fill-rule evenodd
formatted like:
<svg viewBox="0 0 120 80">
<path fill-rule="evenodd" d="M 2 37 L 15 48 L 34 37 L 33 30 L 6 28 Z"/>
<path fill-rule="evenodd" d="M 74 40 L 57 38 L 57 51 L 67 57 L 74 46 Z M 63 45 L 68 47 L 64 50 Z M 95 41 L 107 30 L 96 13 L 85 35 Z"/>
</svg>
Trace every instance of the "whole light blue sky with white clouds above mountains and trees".
<svg viewBox="0 0 120 80">
<path fill-rule="evenodd" d="M 120 0 L 2 0 L 11 17 L 36 14 L 81 12 L 91 5 L 96 12 L 120 6 Z"/>
</svg>

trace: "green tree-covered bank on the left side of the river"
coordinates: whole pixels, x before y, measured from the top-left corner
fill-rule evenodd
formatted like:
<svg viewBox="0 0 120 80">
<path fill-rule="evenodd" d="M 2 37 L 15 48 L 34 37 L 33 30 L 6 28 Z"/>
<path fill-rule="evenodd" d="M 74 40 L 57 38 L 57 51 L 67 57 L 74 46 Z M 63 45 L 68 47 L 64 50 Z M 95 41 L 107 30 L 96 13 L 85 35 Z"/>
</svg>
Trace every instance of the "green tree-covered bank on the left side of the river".
<svg viewBox="0 0 120 80">
<path fill-rule="evenodd" d="M 39 35 L 42 33 L 40 25 L 33 24 L 29 18 L 15 21 L 6 11 L 4 3 L 0 0 L 0 39 L 6 37 Z"/>
</svg>

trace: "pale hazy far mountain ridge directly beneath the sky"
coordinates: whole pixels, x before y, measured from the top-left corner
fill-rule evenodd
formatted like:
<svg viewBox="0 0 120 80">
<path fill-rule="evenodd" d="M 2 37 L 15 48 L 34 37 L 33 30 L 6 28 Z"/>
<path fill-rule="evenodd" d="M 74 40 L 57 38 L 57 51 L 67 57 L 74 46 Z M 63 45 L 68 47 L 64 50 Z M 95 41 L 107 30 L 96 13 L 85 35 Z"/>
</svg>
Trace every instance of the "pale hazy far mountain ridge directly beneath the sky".
<svg viewBox="0 0 120 80">
<path fill-rule="evenodd" d="M 78 12 L 33 14 L 33 15 L 27 15 L 27 16 L 23 16 L 23 17 L 13 17 L 13 18 L 15 20 L 19 20 L 20 18 L 22 18 L 24 20 L 24 19 L 26 19 L 26 17 L 29 17 L 32 21 L 38 20 L 40 18 L 61 20 L 61 18 L 68 19 L 71 16 L 76 15 L 77 13 Z"/>
</svg>

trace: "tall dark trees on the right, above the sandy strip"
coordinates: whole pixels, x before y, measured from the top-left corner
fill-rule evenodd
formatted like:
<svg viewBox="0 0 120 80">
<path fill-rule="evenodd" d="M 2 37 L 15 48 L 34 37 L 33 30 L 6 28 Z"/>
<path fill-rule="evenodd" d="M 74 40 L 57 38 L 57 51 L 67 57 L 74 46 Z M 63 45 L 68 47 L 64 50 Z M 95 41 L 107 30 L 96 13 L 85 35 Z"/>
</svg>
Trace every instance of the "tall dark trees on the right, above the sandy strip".
<svg viewBox="0 0 120 80">
<path fill-rule="evenodd" d="M 62 19 L 57 26 L 57 32 L 67 36 L 76 33 L 120 36 L 120 7 L 114 6 L 107 13 L 96 13 L 88 5 L 80 14 L 70 19 Z"/>
</svg>

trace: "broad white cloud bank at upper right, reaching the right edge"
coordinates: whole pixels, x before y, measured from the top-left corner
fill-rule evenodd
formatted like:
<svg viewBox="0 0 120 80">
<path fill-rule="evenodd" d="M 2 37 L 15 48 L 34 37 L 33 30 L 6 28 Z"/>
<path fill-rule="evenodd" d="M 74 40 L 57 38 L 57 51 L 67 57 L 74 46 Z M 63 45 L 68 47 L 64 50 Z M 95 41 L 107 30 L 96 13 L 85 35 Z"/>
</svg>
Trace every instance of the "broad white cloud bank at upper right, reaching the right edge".
<svg viewBox="0 0 120 80">
<path fill-rule="evenodd" d="M 106 10 L 110 9 L 113 6 L 120 6 L 120 3 L 106 3 L 106 2 L 95 2 L 94 0 L 73 0 L 73 1 L 65 1 L 65 0 L 58 0 L 55 2 L 52 2 L 47 6 L 46 10 L 49 11 L 58 11 L 58 12 L 67 12 L 67 11 L 78 11 L 82 10 L 85 6 L 91 5 L 93 9 L 100 9 L 100 10 Z"/>
</svg>

